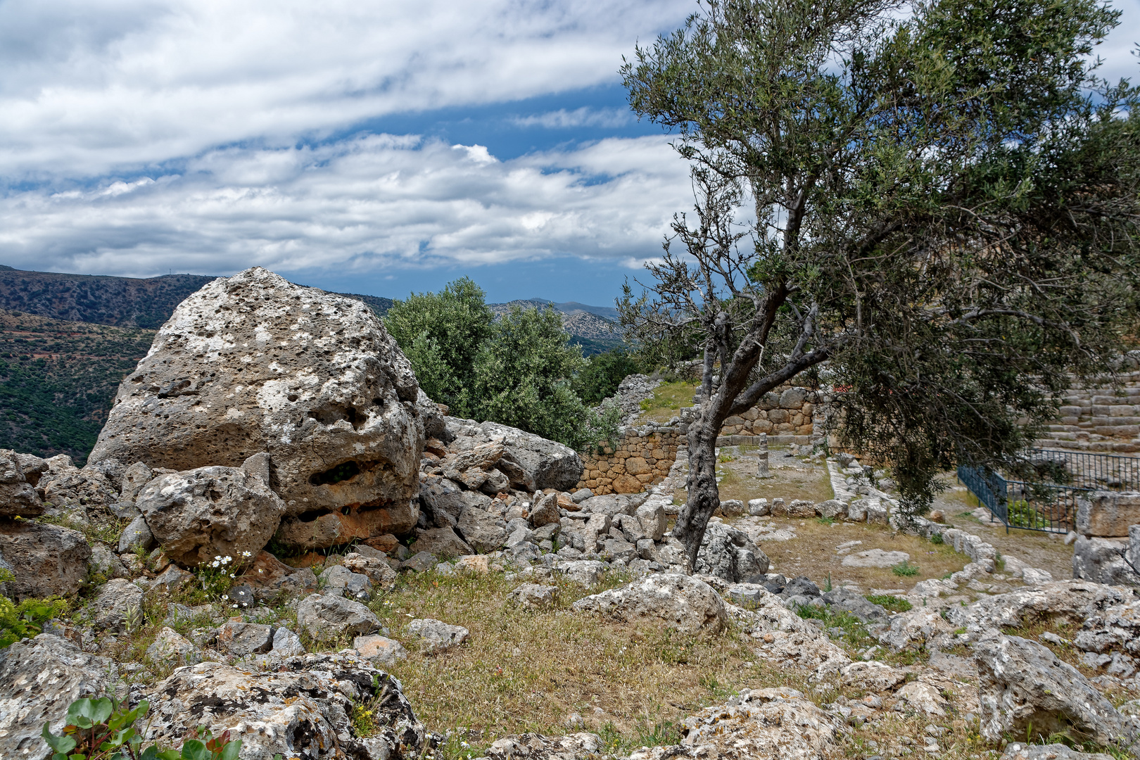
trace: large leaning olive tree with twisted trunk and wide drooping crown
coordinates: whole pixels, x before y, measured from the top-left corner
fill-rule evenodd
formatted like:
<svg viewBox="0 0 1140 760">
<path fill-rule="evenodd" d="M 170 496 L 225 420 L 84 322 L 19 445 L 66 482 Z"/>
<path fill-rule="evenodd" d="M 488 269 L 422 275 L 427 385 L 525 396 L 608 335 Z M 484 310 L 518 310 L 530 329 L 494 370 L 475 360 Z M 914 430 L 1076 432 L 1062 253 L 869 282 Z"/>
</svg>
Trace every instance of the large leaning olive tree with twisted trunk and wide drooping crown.
<svg viewBox="0 0 1140 760">
<path fill-rule="evenodd" d="M 718 504 L 725 418 L 828 362 L 837 433 L 904 517 L 955 463 L 1020 466 L 1137 309 L 1140 98 L 1096 77 L 1094 0 L 707 0 L 622 68 L 678 133 L 694 213 L 622 322 L 699 336 L 675 533 Z M 679 337 L 678 337 L 679 336 Z M 1027 425 L 1023 424 L 1027 420 Z"/>
</svg>

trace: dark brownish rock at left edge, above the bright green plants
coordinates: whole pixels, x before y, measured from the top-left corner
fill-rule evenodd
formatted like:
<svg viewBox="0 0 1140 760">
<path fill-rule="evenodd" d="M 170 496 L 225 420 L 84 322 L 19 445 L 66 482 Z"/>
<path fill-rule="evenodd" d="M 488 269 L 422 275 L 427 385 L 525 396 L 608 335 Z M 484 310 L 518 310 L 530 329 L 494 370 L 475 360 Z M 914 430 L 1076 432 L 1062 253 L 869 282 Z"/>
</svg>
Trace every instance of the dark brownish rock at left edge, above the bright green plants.
<svg viewBox="0 0 1140 760">
<path fill-rule="evenodd" d="M 16 602 L 72 596 L 87 580 L 91 547 L 79 531 L 31 520 L 0 521 L 0 567 L 16 577 L 6 583 Z"/>
</svg>

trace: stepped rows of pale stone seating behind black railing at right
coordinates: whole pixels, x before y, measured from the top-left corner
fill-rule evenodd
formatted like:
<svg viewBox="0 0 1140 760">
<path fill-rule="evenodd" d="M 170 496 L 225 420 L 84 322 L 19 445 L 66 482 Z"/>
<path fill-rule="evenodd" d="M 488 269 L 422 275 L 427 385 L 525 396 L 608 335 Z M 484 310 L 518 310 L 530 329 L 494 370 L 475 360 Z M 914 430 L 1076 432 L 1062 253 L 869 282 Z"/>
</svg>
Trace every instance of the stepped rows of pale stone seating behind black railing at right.
<svg viewBox="0 0 1140 760">
<path fill-rule="evenodd" d="M 1130 453 L 1140 451 L 1140 373 L 1123 377 L 1121 390 L 1073 389 L 1061 418 L 1036 441 L 1050 449 Z"/>
</svg>

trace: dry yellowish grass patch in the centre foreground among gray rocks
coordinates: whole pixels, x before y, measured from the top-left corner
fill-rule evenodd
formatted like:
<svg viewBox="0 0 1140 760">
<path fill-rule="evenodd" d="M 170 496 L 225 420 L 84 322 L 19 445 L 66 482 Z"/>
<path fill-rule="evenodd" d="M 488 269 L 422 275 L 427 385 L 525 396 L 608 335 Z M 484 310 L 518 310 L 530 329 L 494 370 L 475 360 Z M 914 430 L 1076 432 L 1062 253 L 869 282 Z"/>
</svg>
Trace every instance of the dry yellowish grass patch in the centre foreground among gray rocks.
<svg viewBox="0 0 1140 760">
<path fill-rule="evenodd" d="M 613 575 L 601 588 L 627 580 Z M 547 611 L 515 608 L 508 593 L 519 581 L 496 573 L 404 575 L 394 591 L 373 603 L 396 638 L 412 618 L 471 631 L 461 647 L 410 652 L 391 668 L 425 724 L 489 743 L 513 733 L 562 734 L 567 718 L 578 713 L 611 743 L 641 746 L 653 735 L 668 738 L 670 725 L 723 701 L 730 689 L 782 683 L 746 665 L 751 651 L 734 635 L 684 638 L 576 614 L 570 604 L 601 588 L 551 582 L 559 595 Z"/>
</svg>

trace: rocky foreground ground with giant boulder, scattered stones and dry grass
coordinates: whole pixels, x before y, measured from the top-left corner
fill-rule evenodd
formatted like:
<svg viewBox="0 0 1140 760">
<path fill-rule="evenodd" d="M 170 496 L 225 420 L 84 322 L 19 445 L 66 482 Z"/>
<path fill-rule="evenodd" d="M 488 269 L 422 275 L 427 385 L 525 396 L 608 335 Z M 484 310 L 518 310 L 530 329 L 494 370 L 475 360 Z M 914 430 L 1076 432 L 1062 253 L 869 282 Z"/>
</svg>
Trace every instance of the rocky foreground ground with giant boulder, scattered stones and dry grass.
<svg viewBox="0 0 1140 760">
<path fill-rule="evenodd" d="M 256 760 L 1137 754 L 1138 587 L 899 525 L 809 450 L 829 492 L 726 493 L 686 575 L 683 458 L 571 491 L 578 455 L 441 416 L 363 308 L 264 270 L 186 303 L 93 464 L 0 452 L 0 760 L 99 694 Z"/>
</svg>

